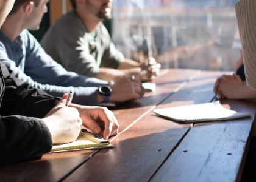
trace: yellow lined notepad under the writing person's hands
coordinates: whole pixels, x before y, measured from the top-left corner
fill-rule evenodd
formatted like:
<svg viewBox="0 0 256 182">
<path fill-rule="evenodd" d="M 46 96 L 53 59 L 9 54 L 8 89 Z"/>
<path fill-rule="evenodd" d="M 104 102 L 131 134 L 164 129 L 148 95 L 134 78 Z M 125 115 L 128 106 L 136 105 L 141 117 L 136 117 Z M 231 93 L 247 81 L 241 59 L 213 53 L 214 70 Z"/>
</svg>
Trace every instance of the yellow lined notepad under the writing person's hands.
<svg viewBox="0 0 256 182">
<path fill-rule="evenodd" d="M 76 141 L 66 144 L 55 144 L 52 146 L 52 152 L 67 152 L 73 150 L 85 149 L 103 149 L 113 147 L 109 141 L 104 140 L 102 136 L 94 135 L 82 129 Z"/>
</svg>

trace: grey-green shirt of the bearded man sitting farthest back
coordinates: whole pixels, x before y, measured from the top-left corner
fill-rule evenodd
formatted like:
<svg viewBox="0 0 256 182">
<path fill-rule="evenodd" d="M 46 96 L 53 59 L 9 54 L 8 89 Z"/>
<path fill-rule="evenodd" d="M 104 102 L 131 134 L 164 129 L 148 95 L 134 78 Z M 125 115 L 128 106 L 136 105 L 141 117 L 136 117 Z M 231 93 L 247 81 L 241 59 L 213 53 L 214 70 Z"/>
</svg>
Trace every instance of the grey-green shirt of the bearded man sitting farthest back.
<svg viewBox="0 0 256 182">
<path fill-rule="evenodd" d="M 124 61 L 104 25 L 88 32 L 74 11 L 63 15 L 48 29 L 41 45 L 66 70 L 90 77 L 96 77 L 99 67 L 116 69 Z"/>
</svg>

